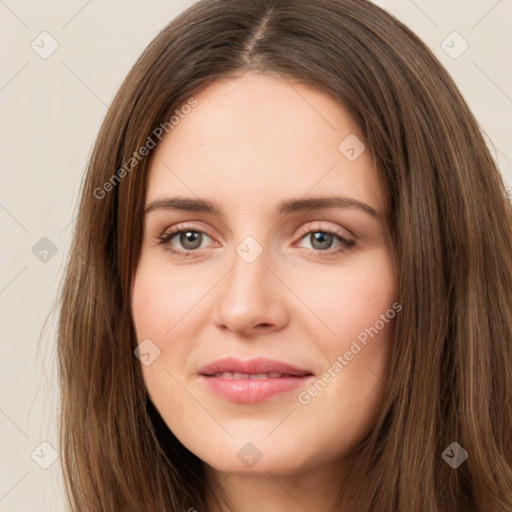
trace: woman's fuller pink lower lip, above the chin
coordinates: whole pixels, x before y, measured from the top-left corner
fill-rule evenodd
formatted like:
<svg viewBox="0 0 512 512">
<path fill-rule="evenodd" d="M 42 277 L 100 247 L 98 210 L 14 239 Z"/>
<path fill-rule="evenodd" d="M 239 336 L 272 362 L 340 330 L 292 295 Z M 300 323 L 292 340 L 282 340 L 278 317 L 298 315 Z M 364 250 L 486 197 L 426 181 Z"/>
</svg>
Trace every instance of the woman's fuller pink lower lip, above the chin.
<svg viewBox="0 0 512 512">
<path fill-rule="evenodd" d="M 217 396 L 238 403 L 262 402 L 276 395 L 293 391 L 312 376 L 282 377 L 279 379 L 225 379 L 202 376 L 206 385 Z"/>
</svg>

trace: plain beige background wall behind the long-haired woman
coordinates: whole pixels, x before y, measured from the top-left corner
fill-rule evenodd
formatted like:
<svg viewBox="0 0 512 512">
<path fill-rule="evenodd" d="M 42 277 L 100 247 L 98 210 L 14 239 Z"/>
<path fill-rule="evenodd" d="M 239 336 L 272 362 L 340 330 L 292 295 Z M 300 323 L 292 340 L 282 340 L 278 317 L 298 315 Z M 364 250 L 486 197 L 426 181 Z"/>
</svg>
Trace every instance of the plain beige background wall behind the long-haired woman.
<svg viewBox="0 0 512 512">
<path fill-rule="evenodd" d="M 82 174 L 106 106 L 147 43 L 192 3 L 0 0 L 2 512 L 65 510 L 54 461 L 53 320 L 39 351 L 38 340 L 62 277 Z M 512 0 L 377 3 L 448 68 L 512 186 Z M 460 36 L 450 35 L 454 31 Z M 453 58 L 464 41 L 469 47 Z"/>
</svg>

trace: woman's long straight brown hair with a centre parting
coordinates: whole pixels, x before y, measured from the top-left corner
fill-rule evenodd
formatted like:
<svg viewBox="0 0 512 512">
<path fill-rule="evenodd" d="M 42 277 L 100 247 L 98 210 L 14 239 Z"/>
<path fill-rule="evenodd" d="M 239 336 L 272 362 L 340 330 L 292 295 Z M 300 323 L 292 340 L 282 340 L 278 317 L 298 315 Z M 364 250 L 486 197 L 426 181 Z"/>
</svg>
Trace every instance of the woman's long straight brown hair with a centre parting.
<svg viewBox="0 0 512 512">
<path fill-rule="evenodd" d="M 338 100 L 389 193 L 403 310 L 380 418 L 350 477 L 332 483 L 346 510 L 510 512 L 512 208 L 453 80 L 417 36 L 364 0 L 203 0 L 125 79 L 87 169 L 60 302 L 71 509 L 207 508 L 203 463 L 159 416 L 133 354 L 149 158 L 134 155 L 199 90 L 247 70 Z M 457 469 L 442 456 L 453 442 L 468 454 Z"/>
</svg>

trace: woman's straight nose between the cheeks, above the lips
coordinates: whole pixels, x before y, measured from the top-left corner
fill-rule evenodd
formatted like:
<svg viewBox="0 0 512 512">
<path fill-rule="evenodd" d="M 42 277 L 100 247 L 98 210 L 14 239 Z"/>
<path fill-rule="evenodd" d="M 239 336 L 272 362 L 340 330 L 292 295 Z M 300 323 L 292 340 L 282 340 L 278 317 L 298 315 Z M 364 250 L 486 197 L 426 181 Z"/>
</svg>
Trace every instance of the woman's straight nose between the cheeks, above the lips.
<svg viewBox="0 0 512 512">
<path fill-rule="evenodd" d="M 265 251 L 252 263 L 234 254 L 231 270 L 216 287 L 217 327 L 251 337 L 287 325 L 286 289 L 268 263 Z"/>
</svg>

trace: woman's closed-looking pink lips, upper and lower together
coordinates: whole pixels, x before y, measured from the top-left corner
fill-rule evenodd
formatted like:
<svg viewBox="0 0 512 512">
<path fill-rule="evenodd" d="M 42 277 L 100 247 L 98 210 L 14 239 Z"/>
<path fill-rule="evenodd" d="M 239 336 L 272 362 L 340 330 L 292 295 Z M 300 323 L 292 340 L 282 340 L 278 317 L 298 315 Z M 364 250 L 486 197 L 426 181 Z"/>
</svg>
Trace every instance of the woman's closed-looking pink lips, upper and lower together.
<svg viewBox="0 0 512 512">
<path fill-rule="evenodd" d="M 243 377 L 236 374 L 243 374 Z M 255 403 L 297 389 L 313 377 L 313 372 L 274 359 L 241 361 L 228 357 L 204 366 L 199 375 L 208 389 L 220 398 Z"/>
</svg>

